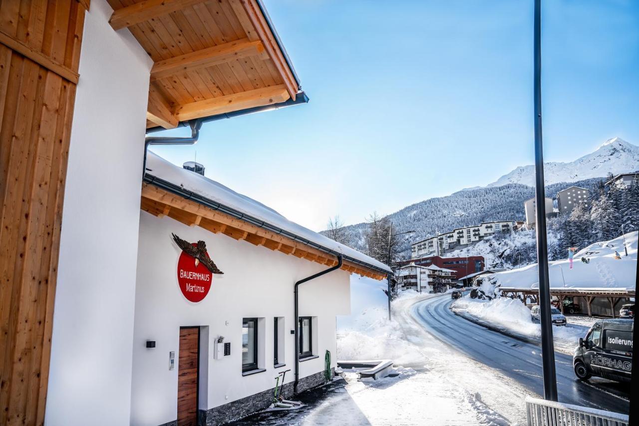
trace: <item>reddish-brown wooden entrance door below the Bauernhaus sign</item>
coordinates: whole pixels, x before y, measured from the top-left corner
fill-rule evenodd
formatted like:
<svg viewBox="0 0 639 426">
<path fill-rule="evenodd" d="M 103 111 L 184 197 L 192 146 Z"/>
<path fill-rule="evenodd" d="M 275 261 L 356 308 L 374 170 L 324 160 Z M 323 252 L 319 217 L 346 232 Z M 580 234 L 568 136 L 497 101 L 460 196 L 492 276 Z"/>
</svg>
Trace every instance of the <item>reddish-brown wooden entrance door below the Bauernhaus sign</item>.
<svg viewBox="0 0 639 426">
<path fill-rule="evenodd" d="M 180 328 L 178 352 L 178 426 L 197 426 L 199 327 Z"/>
</svg>

